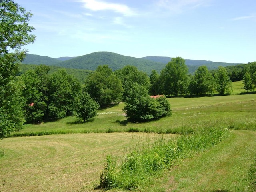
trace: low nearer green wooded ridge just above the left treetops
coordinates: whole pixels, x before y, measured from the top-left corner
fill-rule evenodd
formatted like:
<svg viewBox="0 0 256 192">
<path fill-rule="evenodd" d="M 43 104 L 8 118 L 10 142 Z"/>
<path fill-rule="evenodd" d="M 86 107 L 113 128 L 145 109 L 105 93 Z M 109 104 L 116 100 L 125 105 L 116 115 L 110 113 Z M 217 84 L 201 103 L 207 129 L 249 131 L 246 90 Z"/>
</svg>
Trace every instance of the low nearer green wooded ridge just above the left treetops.
<svg viewBox="0 0 256 192">
<path fill-rule="evenodd" d="M 18 75 L 25 73 L 28 70 L 34 70 L 38 65 L 31 65 L 31 64 L 21 64 L 20 65 L 20 72 Z M 58 69 L 62 69 L 62 67 L 58 66 L 50 66 L 49 74 L 56 72 Z M 75 76 L 78 81 L 84 83 L 87 76 L 92 73 L 93 71 L 84 70 L 84 69 L 67 69 L 67 74 Z"/>
</svg>

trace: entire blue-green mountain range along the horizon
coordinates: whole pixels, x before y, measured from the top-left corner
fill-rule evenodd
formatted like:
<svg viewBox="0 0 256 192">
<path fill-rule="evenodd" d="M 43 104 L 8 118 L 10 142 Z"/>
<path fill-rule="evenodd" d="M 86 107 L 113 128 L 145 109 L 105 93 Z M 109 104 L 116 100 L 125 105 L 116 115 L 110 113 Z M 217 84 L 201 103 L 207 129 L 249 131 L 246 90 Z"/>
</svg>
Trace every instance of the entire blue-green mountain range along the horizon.
<svg viewBox="0 0 256 192">
<path fill-rule="evenodd" d="M 130 56 L 123 56 L 112 52 L 94 52 L 79 57 L 60 57 L 50 58 L 47 56 L 28 54 L 23 64 L 45 64 L 51 66 L 59 66 L 64 68 L 96 70 L 99 65 L 108 65 L 112 70 L 118 70 L 126 65 L 136 66 L 139 70 L 150 74 L 154 69 L 160 72 L 171 57 L 148 56 L 143 58 L 135 58 Z M 207 60 L 191 60 L 185 59 L 185 64 L 188 66 L 188 72 L 193 74 L 195 70 L 202 65 L 207 66 L 208 70 L 217 69 L 218 66 L 234 66 L 238 63 L 222 63 Z"/>
</svg>

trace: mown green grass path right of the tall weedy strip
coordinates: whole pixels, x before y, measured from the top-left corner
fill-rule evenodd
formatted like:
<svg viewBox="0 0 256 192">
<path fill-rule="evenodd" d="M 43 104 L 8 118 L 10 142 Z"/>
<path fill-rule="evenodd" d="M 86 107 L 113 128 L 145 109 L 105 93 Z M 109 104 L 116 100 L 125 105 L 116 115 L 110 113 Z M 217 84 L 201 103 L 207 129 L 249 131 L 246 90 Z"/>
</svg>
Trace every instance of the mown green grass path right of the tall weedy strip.
<svg viewBox="0 0 256 192">
<path fill-rule="evenodd" d="M 248 172 L 256 157 L 256 132 L 233 130 L 229 138 L 166 171 L 167 192 L 255 192 Z M 162 186 L 161 186 L 162 185 Z M 156 188 L 153 188 L 154 191 Z"/>
</svg>

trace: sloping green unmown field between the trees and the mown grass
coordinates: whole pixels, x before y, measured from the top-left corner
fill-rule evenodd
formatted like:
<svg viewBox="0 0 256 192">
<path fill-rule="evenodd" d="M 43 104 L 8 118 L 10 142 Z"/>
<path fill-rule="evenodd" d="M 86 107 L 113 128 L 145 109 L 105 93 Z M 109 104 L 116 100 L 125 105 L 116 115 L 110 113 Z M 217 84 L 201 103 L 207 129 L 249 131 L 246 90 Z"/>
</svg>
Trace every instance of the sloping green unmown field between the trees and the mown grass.
<svg viewBox="0 0 256 192">
<path fill-rule="evenodd" d="M 256 94 L 198 98 L 168 98 L 172 116 L 153 122 L 133 124 L 126 121 L 124 104 L 100 110 L 98 116 L 81 124 L 76 117 L 56 122 L 26 125 L 12 135 L 99 133 L 99 132 L 157 132 L 176 133 L 211 125 L 235 129 L 256 129 Z"/>
</svg>

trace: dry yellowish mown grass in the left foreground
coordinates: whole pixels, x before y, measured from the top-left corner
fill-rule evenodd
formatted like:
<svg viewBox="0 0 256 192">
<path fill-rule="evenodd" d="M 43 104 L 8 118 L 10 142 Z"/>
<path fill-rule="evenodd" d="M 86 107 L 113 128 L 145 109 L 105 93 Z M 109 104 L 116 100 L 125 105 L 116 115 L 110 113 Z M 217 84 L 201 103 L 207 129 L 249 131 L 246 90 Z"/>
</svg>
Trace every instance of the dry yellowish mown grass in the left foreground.
<svg viewBox="0 0 256 192">
<path fill-rule="evenodd" d="M 171 135 L 166 135 L 171 137 Z M 0 191 L 96 191 L 106 155 L 120 159 L 159 134 L 99 133 L 5 138 Z"/>
</svg>

